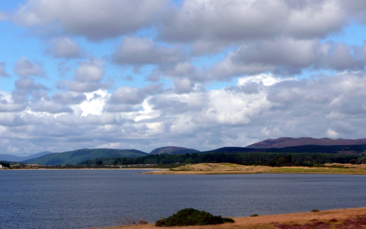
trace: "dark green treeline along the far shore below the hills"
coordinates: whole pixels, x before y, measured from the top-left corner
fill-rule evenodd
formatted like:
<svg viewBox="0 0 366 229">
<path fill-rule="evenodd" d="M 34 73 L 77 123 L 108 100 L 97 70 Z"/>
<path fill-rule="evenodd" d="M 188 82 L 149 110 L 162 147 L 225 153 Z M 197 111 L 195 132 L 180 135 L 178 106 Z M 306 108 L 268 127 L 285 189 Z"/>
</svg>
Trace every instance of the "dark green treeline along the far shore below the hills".
<svg viewBox="0 0 366 229">
<path fill-rule="evenodd" d="M 205 154 L 153 154 L 139 158 L 96 158 L 79 162 L 80 165 L 131 165 L 131 164 L 197 164 L 234 163 L 240 165 L 314 166 L 325 163 L 366 164 L 363 155 L 329 153 L 205 153 Z"/>
</svg>

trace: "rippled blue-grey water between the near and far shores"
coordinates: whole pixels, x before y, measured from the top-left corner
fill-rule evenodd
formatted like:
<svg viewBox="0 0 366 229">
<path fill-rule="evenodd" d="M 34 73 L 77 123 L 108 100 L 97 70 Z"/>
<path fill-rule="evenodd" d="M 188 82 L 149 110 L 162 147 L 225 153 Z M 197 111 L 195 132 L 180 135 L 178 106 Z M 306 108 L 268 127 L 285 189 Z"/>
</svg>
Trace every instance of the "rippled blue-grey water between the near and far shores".
<svg viewBox="0 0 366 229">
<path fill-rule="evenodd" d="M 248 216 L 366 206 L 366 176 L 146 175 L 140 170 L 1 170 L 0 228 L 153 222 L 193 207 Z"/>
</svg>

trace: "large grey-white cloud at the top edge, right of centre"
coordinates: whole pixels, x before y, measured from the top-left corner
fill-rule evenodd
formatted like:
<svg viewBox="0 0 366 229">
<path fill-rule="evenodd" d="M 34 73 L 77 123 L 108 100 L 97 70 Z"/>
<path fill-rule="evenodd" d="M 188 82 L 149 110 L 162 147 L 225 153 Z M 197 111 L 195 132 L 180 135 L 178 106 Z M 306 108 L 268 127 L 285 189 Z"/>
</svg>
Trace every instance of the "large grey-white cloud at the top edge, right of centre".
<svg viewBox="0 0 366 229">
<path fill-rule="evenodd" d="M 350 3 L 353 5 L 354 3 Z M 350 6 L 326 1 L 186 0 L 166 18 L 159 36 L 167 41 L 263 40 L 281 35 L 324 38 L 349 21 Z"/>
</svg>

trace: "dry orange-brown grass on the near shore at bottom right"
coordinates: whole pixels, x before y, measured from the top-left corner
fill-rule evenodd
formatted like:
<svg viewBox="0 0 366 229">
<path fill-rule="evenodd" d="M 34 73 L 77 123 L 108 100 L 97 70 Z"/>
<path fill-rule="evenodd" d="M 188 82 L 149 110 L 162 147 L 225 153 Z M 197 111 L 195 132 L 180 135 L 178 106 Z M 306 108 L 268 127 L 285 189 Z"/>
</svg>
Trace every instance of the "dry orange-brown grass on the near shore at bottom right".
<svg viewBox="0 0 366 229">
<path fill-rule="evenodd" d="M 328 228 L 366 228 L 366 207 L 355 209 L 337 209 L 320 212 L 292 213 L 279 215 L 263 215 L 259 217 L 234 218 L 234 224 L 220 224 L 208 226 L 180 226 L 179 229 L 276 229 L 286 228 L 322 228 L 317 227 L 317 223 L 325 222 Z M 361 217 L 361 219 L 359 218 Z M 335 220 L 336 219 L 336 220 Z M 357 221 L 358 219 L 358 221 Z M 334 222 L 332 222 L 334 221 Z M 364 223 L 365 221 L 365 223 Z M 282 226 L 282 227 L 281 227 Z M 153 224 L 138 226 L 112 227 L 108 229 L 133 227 L 134 229 L 157 229 Z M 177 227 L 175 227 L 177 228 Z"/>
</svg>

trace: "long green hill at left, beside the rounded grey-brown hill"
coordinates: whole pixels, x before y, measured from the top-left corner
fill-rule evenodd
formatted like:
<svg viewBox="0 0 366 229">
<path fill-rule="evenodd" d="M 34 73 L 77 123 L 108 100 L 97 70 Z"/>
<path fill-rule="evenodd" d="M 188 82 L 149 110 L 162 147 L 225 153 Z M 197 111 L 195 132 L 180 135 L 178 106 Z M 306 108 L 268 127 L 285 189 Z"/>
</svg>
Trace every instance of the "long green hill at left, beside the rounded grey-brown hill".
<svg viewBox="0 0 366 229">
<path fill-rule="evenodd" d="M 75 165 L 78 162 L 102 157 L 142 157 L 148 153 L 139 150 L 118 149 L 80 149 L 63 153 L 51 153 L 41 157 L 25 160 L 27 164 L 40 165 Z"/>
</svg>

